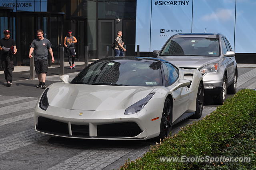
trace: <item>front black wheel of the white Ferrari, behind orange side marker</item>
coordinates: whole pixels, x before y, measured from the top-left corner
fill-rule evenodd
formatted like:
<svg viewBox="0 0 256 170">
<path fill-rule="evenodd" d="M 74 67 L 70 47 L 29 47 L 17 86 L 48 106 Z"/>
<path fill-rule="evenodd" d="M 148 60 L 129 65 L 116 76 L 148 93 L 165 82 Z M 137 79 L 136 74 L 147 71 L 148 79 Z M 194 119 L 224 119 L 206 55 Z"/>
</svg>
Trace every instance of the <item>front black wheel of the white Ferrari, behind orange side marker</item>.
<svg viewBox="0 0 256 170">
<path fill-rule="evenodd" d="M 162 112 L 160 134 L 159 138 L 164 139 L 169 136 L 172 130 L 172 103 L 169 98 L 166 98 L 164 102 L 164 108 Z"/>
</svg>

